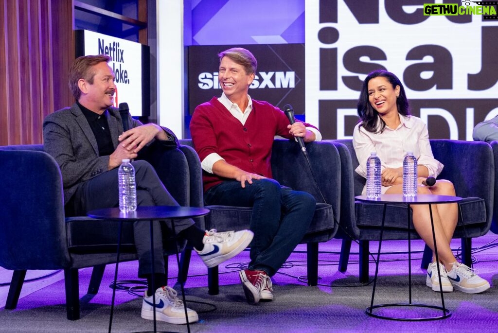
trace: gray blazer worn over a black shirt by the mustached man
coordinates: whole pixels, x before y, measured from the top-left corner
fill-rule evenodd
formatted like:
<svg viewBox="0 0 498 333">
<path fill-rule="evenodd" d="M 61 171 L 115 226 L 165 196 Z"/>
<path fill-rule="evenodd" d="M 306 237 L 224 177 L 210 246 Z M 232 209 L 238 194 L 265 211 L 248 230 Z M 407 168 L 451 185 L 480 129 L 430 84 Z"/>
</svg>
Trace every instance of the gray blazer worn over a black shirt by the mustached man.
<svg viewBox="0 0 498 333">
<path fill-rule="evenodd" d="M 123 133 L 123 121 L 118 109 L 109 108 L 109 129 L 114 148 Z M 129 128 L 142 123 L 129 115 Z M 76 191 L 79 183 L 108 171 L 109 156 L 99 156 L 99 147 L 87 118 L 75 103 L 49 114 L 43 121 L 43 149 L 61 169 L 64 186 L 64 204 Z"/>
</svg>

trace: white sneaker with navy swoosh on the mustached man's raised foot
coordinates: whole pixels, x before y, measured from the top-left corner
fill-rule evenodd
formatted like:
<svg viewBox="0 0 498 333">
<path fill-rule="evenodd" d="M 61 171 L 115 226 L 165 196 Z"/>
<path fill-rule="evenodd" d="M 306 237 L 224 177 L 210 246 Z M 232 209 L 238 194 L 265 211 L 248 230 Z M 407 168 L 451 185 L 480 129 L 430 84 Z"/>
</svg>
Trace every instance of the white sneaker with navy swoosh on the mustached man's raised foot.
<svg viewBox="0 0 498 333">
<path fill-rule="evenodd" d="M 215 267 L 241 253 L 248 247 L 253 236 L 254 233 L 250 230 L 216 232 L 216 229 L 211 229 L 206 231 L 202 239 L 202 251 L 196 251 L 208 268 Z"/>
</svg>

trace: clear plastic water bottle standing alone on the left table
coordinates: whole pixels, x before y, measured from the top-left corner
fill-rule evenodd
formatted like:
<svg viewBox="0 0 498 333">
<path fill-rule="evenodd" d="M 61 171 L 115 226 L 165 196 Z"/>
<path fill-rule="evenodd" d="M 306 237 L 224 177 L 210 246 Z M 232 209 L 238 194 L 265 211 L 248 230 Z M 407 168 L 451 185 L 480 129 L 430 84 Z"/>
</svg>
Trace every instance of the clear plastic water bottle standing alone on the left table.
<svg viewBox="0 0 498 333">
<path fill-rule="evenodd" d="M 120 190 L 120 211 L 123 213 L 136 211 L 135 168 L 129 159 L 122 160 L 118 170 Z"/>
</svg>

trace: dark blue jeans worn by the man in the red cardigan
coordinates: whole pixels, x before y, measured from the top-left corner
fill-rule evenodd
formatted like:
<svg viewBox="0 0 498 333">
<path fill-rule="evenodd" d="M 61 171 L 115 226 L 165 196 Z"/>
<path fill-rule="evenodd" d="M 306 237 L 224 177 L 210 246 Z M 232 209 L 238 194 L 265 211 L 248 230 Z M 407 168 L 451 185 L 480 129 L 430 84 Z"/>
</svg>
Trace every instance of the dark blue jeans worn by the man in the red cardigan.
<svg viewBox="0 0 498 333">
<path fill-rule="evenodd" d="M 252 207 L 250 229 L 254 238 L 250 248 L 249 269 L 273 276 L 303 239 L 313 214 L 315 198 L 306 192 L 292 191 L 273 179 L 246 182 L 225 181 L 204 195 L 208 205 Z"/>
</svg>

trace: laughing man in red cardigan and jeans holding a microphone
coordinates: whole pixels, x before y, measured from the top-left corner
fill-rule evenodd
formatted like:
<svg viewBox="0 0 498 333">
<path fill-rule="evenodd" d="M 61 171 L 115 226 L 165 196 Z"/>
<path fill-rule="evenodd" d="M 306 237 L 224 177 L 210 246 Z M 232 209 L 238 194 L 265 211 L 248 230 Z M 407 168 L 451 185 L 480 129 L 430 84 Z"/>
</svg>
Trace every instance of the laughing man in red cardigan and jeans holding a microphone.
<svg viewBox="0 0 498 333">
<path fill-rule="evenodd" d="M 299 120 L 290 125 L 280 109 L 250 98 L 257 62 L 248 50 L 231 48 L 218 56 L 223 94 L 195 109 L 190 132 L 201 159 L 206 204 L 252 207 L 251 261 L 239 275 L 248 303 L 256 304 L 273 299 L 270 277 L 303 238 L 316 205 L 309 193 L 272 179 L 273 138 L 312 142 L 321 134 Z"/>
</svg>

